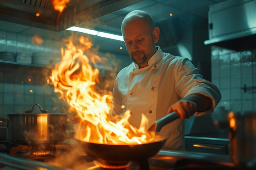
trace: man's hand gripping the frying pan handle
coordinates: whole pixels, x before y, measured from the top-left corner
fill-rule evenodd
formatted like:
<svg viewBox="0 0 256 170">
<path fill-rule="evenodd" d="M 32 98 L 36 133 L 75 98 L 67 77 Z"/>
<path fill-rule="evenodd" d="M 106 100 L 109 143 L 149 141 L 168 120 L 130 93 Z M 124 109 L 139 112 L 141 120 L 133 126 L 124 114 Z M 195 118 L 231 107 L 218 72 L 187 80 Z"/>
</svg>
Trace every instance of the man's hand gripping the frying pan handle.
<svg viewBox="0 0 256 170">
<path fill-rule="evenodd" d="M 173 104 L 167 114 L 176 112 L 180 115 L 180 119 L 184 120 L 192 116 L 197 110 L 197 104 L 186 99 L 180 99 L 178 102 Z"/>
</svg>

